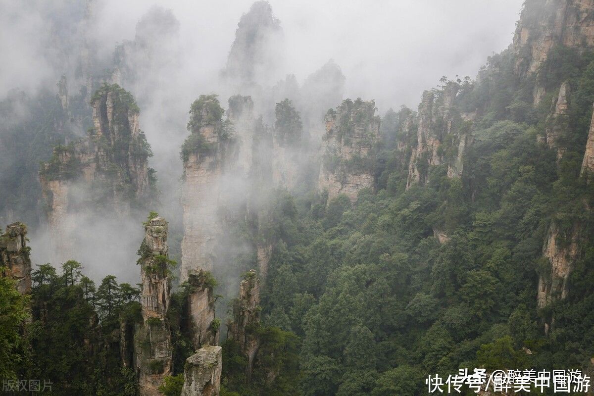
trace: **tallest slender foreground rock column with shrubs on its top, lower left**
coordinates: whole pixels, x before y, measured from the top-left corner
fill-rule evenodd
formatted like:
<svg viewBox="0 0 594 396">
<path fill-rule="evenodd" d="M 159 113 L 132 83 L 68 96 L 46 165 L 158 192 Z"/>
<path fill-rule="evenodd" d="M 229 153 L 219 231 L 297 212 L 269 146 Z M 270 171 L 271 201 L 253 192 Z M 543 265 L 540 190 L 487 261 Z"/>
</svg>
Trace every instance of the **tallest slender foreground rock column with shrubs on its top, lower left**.
<svg viewBox="0 0 594 396">
<path fill-rule="evenodd" d="M 143 322 L 134 328 L 134 362 L 140 394 L 156 396 L 163 378 L 172 373 L 171 334 L 166 321 L 171 289 L 167 222 L 156 217 L 144 229 L 138 251 Z"/>
</svg>

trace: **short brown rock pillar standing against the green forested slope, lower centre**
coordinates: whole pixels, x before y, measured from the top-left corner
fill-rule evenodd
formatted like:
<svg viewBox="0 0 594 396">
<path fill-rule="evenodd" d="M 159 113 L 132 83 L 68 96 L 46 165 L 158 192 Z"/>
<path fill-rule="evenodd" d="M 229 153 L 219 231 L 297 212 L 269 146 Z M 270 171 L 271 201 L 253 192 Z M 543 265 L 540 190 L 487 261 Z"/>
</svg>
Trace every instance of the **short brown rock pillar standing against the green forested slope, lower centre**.
<svg viewBox="0 0 594 396">
<path fill-rule="evenodd" d="M 247 382 L 251 379 L 254 359 L 260 341 L 254 330 L 260 323 L 260 281 L 255 270 L 250 270 L 239 284 L 239 297 L 233 304 L 233 321 L 229 323 L 229 337 L 239 344 L 248 359 L 245 370 Z"/>
</svg>

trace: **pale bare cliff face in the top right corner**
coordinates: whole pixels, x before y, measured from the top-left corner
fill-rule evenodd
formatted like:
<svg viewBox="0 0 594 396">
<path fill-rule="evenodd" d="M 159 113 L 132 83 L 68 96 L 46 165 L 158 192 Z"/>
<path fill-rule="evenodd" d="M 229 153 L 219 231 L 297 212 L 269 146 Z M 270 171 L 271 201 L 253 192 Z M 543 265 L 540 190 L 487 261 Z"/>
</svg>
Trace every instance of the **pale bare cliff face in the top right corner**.
<svg viewBox="0 0 594 396">
<path fill-rule="evenodd" d="M 594 12 L 589 1 L 526 1 L 511 45 L 516 55 L 516 73 L 525 77 L 538 72 L 557 46 L 579 51 L 594 46 Z M 534 103 L 538 104 L 544 94 L 545 87 L 537 83 Z"/>
</svg>

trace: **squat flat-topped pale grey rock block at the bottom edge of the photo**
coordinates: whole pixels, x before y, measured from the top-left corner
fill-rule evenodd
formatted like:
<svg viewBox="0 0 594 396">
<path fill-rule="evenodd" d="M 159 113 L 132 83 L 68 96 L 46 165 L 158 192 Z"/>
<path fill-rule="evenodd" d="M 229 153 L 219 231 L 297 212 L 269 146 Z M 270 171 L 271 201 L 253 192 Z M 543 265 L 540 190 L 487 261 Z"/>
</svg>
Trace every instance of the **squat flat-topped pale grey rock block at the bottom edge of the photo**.
<svg viewBox="0 0 594 396">
<path fill-rule="evenodd" d="M 182 396 L 218 396 L 223 369 L 221 347 L 205 346 L 188 357 Z"/>
</svg>

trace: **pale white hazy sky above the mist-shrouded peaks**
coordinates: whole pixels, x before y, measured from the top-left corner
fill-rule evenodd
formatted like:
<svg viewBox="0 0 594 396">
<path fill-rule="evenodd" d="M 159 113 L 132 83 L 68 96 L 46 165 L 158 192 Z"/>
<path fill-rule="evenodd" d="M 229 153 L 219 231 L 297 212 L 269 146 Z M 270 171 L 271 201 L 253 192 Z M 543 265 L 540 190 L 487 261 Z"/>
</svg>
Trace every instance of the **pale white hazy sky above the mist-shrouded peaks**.
<svg viewBox="0 0 594 396">
<path fill-rule="evenodd" d="M 299 81 L 328 59 L 346 75 L 347 96 L 415 107 L 442 75 L 474 78 L 492 52 L 511 42 L 523 0 L 271 0 L 285 32 L 290 70 Z M 151 4 L 173 9 L 196 69 L 225 63 L 239 17 L 251 0 L 107 0 L 103 34 L 132 38 Z M 224 4 L 224 5 L 223 5 Z M 213 81 L 204 79 L 205 84 Z M 209 87 L 216 90 L 216 87 Z"/>
</svg>

